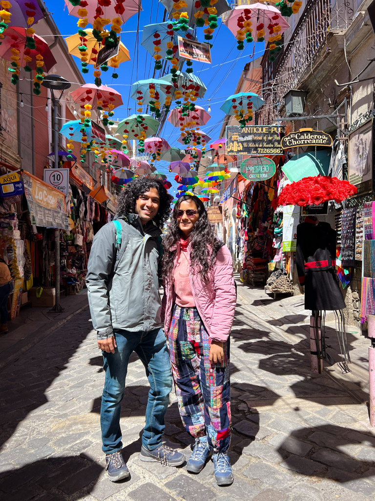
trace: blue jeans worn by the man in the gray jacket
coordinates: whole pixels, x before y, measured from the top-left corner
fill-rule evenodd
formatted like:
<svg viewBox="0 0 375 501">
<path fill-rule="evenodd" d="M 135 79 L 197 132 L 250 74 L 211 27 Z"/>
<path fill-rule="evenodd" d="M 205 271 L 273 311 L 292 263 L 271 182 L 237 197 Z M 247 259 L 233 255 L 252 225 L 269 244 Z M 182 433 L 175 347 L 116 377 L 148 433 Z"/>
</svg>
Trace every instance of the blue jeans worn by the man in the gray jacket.
<svg viewBox="0 0 375 501">
<path fill-rule="evenodd" d="M 161 444 L 164 415 L 172 389 L 172 376 L 165 335 L 161 329 L 149 332 L 118 331 L 114 353 L 103 352 L 105 382 L 101 397 L 100 426 L 102 450 L 106 454 L 122 448 L 120 411 L 129 357 L 133 351 L 142 361 L 150 390 L 146 407 L 142 445 L 149 450 Z"/>
</svg>

